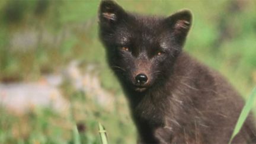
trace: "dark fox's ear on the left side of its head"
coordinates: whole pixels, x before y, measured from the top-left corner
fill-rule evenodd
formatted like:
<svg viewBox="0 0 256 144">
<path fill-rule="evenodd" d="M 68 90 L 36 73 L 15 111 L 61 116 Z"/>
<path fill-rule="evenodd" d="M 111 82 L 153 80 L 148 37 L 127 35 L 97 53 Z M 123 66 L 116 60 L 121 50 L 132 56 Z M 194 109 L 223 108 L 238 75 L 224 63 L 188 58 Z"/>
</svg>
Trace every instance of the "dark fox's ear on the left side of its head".
<svg viewBox="0 0 256 144">
<path fill-rule="evenodd" d="M 99 19 L 100 24 L 105 26 L 111 26 L 119 23 L 124 18 L 126 12 L 116 2 L 110 0 L 103 0 L 100 4 Z"/>
</svg>

